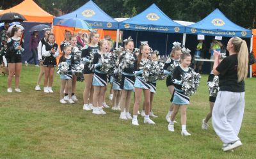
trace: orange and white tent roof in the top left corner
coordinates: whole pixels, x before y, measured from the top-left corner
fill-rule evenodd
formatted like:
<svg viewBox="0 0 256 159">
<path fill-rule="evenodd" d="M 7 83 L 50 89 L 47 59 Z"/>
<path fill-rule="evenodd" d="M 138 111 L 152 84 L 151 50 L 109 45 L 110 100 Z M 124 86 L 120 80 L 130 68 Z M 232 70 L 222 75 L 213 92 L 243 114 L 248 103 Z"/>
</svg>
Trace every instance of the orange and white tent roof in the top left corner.
<svg viewBox="0 0 256 159">
<path fill-rule="evenodd" d="M 53 15 L 44 11 L 33 0 L 24 0 L 17 6 L 3 10 L 0 15 L 8 12 L 16 12 L 23 15 L 28 22 L 52 22 Z"/>
</svg>

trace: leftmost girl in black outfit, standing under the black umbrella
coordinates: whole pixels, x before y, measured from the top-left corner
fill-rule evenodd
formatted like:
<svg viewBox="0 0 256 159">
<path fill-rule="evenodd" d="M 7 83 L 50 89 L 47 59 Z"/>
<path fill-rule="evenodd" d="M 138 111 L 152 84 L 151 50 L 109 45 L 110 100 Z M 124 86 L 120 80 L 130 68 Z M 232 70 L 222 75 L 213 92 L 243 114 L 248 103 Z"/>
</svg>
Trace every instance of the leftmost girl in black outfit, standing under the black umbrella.
<svg viewBox="0 0 256 159">
<path fill-rule="evenodd" d="M 20 36 L 22 31 L 20 27 L 13 27 L 11 38 L 7 40 L 6 59 L 8 62 L 9 75 L 7 79 L 7 92 L 12 93 L 12 77 L 15 74 L 15 92 L 21 92 L 19 89 L 21 72 L 21 53 L 24 51 L 23 44 L 20 45 Z"/>
</svg>

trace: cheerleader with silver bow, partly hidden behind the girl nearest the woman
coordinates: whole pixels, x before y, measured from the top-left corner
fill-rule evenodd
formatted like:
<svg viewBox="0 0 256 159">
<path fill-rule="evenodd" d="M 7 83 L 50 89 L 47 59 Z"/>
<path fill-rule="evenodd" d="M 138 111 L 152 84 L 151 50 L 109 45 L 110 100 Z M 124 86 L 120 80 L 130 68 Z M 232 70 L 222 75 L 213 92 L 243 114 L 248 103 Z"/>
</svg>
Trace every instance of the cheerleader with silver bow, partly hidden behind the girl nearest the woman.
<svg viewBox="0 0 256 159">
<path fill-rule="evenodd" d="M 168 59 L 166 61 L 166 63 L 164 64 L 164 73 L 166 75 L 168 75 L 168 77 L 166 78 L 166 87 L 168 88 L 168 91 L 171 95 L 173 95 L 173 91 L 174 91 L 174 85 L 172 83 L 172 74 L 171 72 L 168 72 L 167 69 L 168 67 L 173 64 L 175 67 L 179 65 L 180 63 L 180 55 L 181 55 L 181 48 L 180 48 L 180 44 L 179 42 L 174 42 L 173 43 L 173 48 L 172 48 L 172 52 L 170 54 L 171 58 Z M 171 98 L 171 102 L 172 102 L 173 96 Z M 173 104 L 170 105 L 170 109 L 166 115 L 166 121 L 168 123 L 170 123 L 170 116 L 172 114 L 173 111 Z M 176 123 L 176 121 L 175 121 Z"/>
</svg>

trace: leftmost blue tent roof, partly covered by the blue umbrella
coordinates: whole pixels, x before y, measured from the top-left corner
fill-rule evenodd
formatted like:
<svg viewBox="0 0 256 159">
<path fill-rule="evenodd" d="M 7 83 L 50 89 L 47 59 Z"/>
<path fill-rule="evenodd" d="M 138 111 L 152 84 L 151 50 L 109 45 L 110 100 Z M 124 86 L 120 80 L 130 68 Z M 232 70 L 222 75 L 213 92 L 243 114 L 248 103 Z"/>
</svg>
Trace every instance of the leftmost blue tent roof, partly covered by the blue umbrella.
<svg viewBox="0 0 256 159">
<path fill-rule="evenodd" d="M 55 26 L 62 19 L 70 19 L 76 17 L 78 19 L 85 20 L 93 28 L 118 29 L 118 22 L 109 17 L 109 15 L 101 10 L 99 6 L 93 3 L 93 1 L 88 1 L 88 3 L 84 4 L 71 13 L 54 18 L 53 25 Z"/>
</svg>

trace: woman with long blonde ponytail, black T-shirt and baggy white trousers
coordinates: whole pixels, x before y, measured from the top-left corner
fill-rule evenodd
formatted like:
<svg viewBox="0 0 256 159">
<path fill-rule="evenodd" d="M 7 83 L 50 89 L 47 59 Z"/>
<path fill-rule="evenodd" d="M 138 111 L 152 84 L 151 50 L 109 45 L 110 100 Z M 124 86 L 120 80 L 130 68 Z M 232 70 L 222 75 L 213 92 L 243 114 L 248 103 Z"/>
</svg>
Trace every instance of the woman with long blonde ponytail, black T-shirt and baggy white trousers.
<svg viewBox="0 0 256 159">
<path fill-rule="evenodd" d="M 230 38 L 229 55 L 220 61 L 220 52 L 214 52 L 214 75 L 219 75 L 220 91 L 212 110 L 212 126 L 223 142 L 223 151 L 242 145 L 237 136 L 244 114 L 244 79 L 248 73 L 248 49 L 241 38 Z"/>
</svg>

